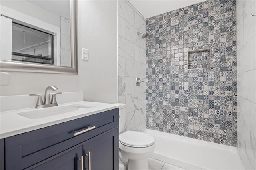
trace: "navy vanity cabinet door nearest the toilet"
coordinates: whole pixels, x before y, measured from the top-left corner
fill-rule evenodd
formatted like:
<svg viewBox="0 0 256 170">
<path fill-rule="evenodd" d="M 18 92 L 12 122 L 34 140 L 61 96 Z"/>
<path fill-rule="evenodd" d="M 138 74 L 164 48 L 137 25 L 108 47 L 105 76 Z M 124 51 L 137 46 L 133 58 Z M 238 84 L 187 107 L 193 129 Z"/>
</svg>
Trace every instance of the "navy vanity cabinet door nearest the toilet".
<svg viewBox="0 0 256 170">
<path fill-rule="evenodd" d="M 83 148 L 85 170 L 118 170 L 118 128 L 84 142 Z"/>
</svg>

